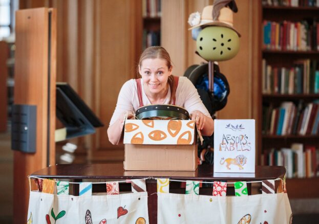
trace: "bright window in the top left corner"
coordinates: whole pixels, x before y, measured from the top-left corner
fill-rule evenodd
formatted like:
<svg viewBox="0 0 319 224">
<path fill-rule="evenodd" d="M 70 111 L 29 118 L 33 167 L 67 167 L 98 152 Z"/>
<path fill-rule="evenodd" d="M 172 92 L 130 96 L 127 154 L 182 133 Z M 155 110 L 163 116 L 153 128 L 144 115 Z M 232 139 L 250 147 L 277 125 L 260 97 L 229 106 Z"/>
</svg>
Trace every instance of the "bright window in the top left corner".
<svg viewBox="0 0 319 224">
<path fill-rule="evenodd" d="M 10 35 L 10 0 L 0 0 L 0 40 Z"/>
</svg>

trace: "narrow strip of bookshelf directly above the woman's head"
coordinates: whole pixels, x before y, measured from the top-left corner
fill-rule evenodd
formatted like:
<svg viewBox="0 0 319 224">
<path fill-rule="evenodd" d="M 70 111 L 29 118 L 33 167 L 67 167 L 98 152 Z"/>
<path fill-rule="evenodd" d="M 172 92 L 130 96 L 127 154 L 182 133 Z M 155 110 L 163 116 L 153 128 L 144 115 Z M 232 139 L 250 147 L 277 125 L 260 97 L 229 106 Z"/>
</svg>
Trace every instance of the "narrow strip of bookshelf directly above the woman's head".
<svg viewBox="0 0 319 224">
<path fill-rule="evenodd" d="M 161 45 L 161 0 L 142 0 L 142 51 Z"/>
</svg>

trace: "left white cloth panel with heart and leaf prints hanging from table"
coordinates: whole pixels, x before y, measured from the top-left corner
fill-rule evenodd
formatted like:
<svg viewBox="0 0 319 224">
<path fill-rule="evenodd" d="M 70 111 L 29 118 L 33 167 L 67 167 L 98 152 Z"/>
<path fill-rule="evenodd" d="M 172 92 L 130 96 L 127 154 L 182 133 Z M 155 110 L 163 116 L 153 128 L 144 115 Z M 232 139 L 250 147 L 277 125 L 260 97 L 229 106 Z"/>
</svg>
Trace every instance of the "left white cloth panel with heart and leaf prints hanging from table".
<svg viewBox="0 0 319 224">
<path fill-rule="evenodd" d="M 147 192 L 73 196 L 30 191 L 28 223 L 148 222 Z"/>
</svg>

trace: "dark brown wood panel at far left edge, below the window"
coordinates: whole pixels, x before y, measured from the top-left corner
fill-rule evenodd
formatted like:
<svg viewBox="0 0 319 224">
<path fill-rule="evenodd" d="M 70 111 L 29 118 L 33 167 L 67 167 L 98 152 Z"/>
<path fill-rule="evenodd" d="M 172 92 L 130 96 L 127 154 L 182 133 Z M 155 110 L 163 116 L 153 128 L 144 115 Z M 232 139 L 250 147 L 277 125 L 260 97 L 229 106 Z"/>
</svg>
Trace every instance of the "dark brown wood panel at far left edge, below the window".
<svg viewBox="0 0 319 224">
<path fill-rule="evenodd" d="M 7 99 L 7 59 L 9 57 L 9 47 L 5 41 L 0 41 L 0 132 L 7 130 L 8 99 Z"/>
</svg>

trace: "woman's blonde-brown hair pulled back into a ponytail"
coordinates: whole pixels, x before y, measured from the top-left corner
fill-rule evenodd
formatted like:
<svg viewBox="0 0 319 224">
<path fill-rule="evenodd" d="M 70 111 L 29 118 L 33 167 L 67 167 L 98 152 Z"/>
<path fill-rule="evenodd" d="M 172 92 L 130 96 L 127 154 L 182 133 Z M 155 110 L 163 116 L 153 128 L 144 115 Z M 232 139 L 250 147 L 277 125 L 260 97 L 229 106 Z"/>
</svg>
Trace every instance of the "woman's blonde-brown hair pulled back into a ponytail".
<svg viewBox="0 0 319 224">
<path fill-rule="evenodd" d="M 155 59 L 155 58 L 160 58 L 166 61 L 166 65 L 168 70 L 172 68 L 172 61 L 171 57 L 169 57 L 168 52 L 160 46 L 152 46 L 149 48 L 146 48 L 143 53 L 140 56 L 140 60 L 138 62 L 139 66 L 142 66 L 142 62 L 145 59 Z M 169 88 L 171 88 L 171 98 L 169 99 L 169 104 L 172 104 L 176 100 L 176 83 L 174 81 L 174 76 L 168 76 L 167 83 L 169 85 Z"/>
</svg>

